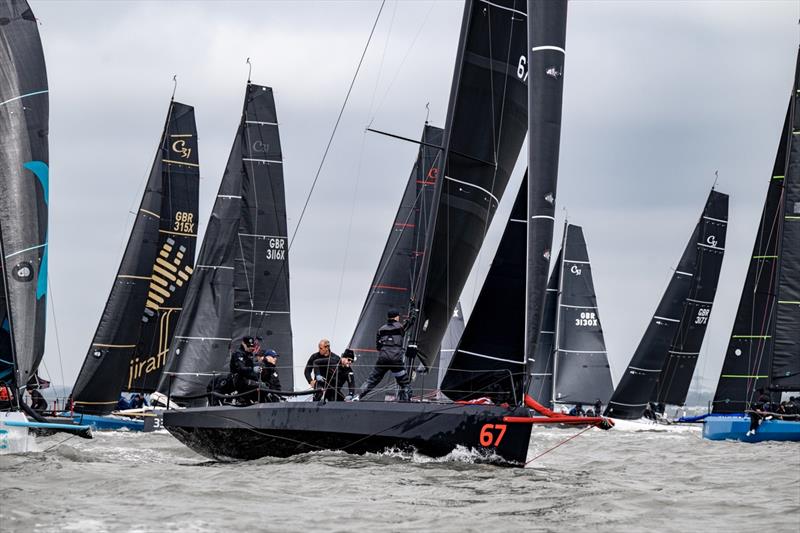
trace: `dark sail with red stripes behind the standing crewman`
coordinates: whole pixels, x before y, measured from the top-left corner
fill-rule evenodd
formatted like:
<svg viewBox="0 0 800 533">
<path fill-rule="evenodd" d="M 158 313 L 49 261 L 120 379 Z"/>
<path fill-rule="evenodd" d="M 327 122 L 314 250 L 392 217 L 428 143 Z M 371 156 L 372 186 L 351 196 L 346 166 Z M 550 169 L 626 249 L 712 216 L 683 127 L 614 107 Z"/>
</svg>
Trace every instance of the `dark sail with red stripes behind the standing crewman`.
<svg viewBox="0 0 800 533">
<path fill-rule="evenodd" d="M 442 129 L 425 125 L 417 161 L 408 178 L 400 207 L 378 270 L 370 284 L 350 349 L 358 357 L 354 365 L 356 383 L 363 383 L 377 360 L 375 332 L 386 322 L 390 309 L 409 312 L 411 297 L 425 256 L 425 237 L 432 209 L 433 188 L 442 160 Z M 389 376 L 391 377 L 391 376 Z M 387 377 L 388 380 L 388 377 Z M 378 389 L 388 381 L 384 380 Z M 394 379 L 391 380 L 394 382 Z"/>
</svg>

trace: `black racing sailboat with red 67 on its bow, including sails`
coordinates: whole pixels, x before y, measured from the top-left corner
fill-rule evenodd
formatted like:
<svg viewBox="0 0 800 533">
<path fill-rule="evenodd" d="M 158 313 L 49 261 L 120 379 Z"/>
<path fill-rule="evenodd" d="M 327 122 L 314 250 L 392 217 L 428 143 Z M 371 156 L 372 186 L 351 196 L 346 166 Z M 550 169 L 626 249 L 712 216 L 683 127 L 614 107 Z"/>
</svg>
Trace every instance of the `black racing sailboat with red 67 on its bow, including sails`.
<svg viewBox="0 0 800 533">
<path fill-rule="evenodd" d="M 528 10 L 532 16 L 526 38 Z M 541 261 L 536 261 L 543 263 L 545 276 L 538 275 L 542 265 L 537 265 L 534 274 L 528 273 L 527 292 L 532 294 L 526 305 L 528 317 L 531 309 L 538 311 L 543 303 L 552 240 L 565 33 L 563 0 L 531 0 L 527 7 L 519 0 L 466 2 L 443 136 L 445 172 L 435 184 L 426 254 L 415 289 L 420 320 L 414 340 L 425 365 L 430 366 L 438 353 L 521 148 L 526 129 L 525 81 L 529 99 L 539 111 L 528 116 L 529 157 L 535 162 L 531 181 L 536 185 L 529 190 L 533 201 L 528 202 L 532 208 L 527 216 L 537 220 L 549 217 L 550 222 L 529 232 L 528 248 L 540 254 Z M 537 312 L 536 320 L 538 316 Z M 362 400 L 164 413 L 164 425 L 174 436 L 215 458 L 285 457 L 320 449 L 364 453 L 387 448 L 413 448 L 438 457 L 462 446 L 511 465 L 524 464 L 532 420 L 521 398 L 511 405 Z"/>
</svg>

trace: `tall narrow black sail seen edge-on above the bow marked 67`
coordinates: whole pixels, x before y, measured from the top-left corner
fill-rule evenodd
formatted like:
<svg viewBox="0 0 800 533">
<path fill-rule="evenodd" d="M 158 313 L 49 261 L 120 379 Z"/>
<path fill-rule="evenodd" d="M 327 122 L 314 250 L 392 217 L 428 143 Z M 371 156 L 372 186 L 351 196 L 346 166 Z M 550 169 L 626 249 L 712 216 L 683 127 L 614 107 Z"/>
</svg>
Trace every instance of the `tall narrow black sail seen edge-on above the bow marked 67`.
<svg viewBox="0 0 800 533">
<path fill-rule="evenodd" d="M 555 224 L 566 0 L 528 0 L 528 268 L 525 361 L 536 353 Z M 554 384 L 555 386 L 555 384 Z"/>
</svg>

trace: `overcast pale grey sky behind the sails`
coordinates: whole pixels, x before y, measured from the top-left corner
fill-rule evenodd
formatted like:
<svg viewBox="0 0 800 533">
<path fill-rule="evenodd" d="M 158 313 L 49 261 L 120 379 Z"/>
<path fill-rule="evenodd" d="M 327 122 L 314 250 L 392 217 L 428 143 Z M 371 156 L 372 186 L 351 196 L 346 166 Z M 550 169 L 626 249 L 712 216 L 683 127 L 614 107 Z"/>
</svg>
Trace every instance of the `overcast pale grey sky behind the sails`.
<svg viewBox="0 0 800 533">
<path fill-rule="evenodd" d="M 176 99 L 196 110 L 200 232 L 239 120 L 247 57 L 253 81 L 275 89 L 293 229 L 378 3 L 30 1 L 51 91 L 51 308 L 72 383 L 173 74 Z M 334 350 L 349 339 L 415 157 L 415 146 L 364 127 L 417 137 L 427 102 L 431 122 L 443 125 L 461 12 L 459 1 L 384 8 L 291 251 L 298 360 L 319 337 Z M 719 169 L 731 222 L 698 366 L 707 387 L 716 382 L 791 91 L 798 16 L 797 2 L 570 3 L 558 205 L 584 226 L 615 381 Z M 467 283 L 467 316 L 524 156 Z M 61 382 L 54 325 L 50 314 L 45 364 Z"/>
</svg>

